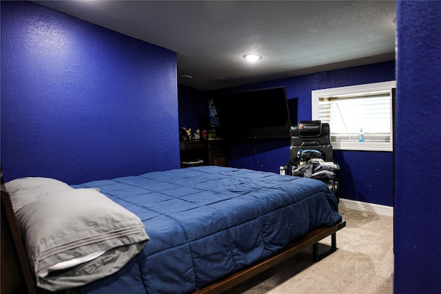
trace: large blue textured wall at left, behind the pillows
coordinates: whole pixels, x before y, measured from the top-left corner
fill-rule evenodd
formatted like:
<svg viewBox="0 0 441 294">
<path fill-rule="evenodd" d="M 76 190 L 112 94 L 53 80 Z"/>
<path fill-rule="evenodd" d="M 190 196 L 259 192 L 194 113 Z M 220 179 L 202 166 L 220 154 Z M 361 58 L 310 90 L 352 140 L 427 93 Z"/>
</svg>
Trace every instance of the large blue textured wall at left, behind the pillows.
<svg viewBox="0 0 441 294">
<path fill-rule="evenodd" d="M 1 1 L 1 165 L 69 184 L 178 168 L 176 52 Z"/>
</svg>

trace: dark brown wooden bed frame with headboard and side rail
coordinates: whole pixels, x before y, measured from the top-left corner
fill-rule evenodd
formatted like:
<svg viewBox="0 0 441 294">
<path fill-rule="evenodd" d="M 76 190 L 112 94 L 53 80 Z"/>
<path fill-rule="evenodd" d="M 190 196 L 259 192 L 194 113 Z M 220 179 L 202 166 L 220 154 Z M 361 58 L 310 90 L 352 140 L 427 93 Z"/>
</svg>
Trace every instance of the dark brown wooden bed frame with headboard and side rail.
<svg viewBox="0 0 441 294">
<path fill-rule="evenodd" d="M 28 256 L 25 253 L 25 246 L 21 239 L 19 225 L 12 210 L 9 195 L 3 189 L 3 182 L 1 184 L 1 293 L 74 293 L 74 289 L 50 292 L 35 286 L 36 283 L 30 270 Z M 311 233 L 305 235 L 301 240 L 289 244 L 285 249 L 275 255 L 249 266 L 247 269 L 233 273 L 223 280 L 210 284 L 194 292 L 194 294 L 223 293 L 229 288 L 245 282 L 245 280 L 258 275 L 258 273 L 262 273 L 287 258 L 291 258 L 310 246 L 313 248 L 314 262 L 317 262 L 337 250 L 336 232 L 344 227 L 346 227 L 346 221 L 342 220 L 334 227 L 311 231 Z M 318 242 L 327 238 L 329 235 L 331 235 L 331 246 L 329 250 L 319 254 Z"/>
</svg>

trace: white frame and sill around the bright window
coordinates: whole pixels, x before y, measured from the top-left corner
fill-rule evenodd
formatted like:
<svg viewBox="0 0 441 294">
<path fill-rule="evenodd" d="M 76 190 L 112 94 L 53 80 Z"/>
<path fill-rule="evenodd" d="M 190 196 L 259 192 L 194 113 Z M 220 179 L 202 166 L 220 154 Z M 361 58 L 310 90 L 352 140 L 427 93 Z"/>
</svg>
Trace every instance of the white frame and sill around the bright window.
<svg viewBox="0 0 441 294">
<path fill-rule="evenodd" d="M 362 150 L 362 151 L 393 151 L 393 99 L 392 89 L 396 88 L 396 81 L 388 81 L 382 83 L 371 83 L 365 85 L 353 85 L 347 87 L 335 87 L 330 89 L 311 91 L 311 109 L 312 119 L 318 120 L 318 101 L 320 97 L 340 96 L 349 94 L 359 94 L 366 92 L 387 91 L 391 93 L 391 138 L 390 142 L 336 142 L 331 141 L 333 149 L 340 150 Z M 332 129 L 331 129 L 332 131 Z"/>
</svg>

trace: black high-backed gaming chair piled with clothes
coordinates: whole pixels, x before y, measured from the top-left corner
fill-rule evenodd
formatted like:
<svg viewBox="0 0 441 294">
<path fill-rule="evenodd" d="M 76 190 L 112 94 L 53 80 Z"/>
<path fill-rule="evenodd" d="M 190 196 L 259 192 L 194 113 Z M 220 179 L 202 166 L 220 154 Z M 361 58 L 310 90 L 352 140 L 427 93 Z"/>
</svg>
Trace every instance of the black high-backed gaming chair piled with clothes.
<svg viewBox="0 0 441 294">
<path fill-rule="evenodd" d="M 325 182 L 339 198 L 339 165 L 334 162 L 329 123 L 321 120 L 304 120 L 291 125 L 289 147 L 289 174 L 316 178 Z"/>
</svg>

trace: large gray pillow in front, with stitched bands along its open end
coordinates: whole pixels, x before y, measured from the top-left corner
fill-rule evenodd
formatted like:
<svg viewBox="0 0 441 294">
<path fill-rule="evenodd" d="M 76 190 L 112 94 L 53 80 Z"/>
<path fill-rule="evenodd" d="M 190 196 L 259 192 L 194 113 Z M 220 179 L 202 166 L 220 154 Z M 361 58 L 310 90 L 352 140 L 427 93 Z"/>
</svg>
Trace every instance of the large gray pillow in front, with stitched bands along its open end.
<svg viewBox="0 0 441 294">
<path fill-rule="evenodd" d="M 94 189 L 44 193 L 17 209 L 16 215 L 37 286 L 50 291 L 81 286 L 118 271 L 149 240 L 134 213 Z M 94 258 L 39 275 L 50 266 L 88 255 Z"/>
</svg>

